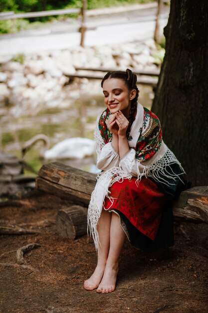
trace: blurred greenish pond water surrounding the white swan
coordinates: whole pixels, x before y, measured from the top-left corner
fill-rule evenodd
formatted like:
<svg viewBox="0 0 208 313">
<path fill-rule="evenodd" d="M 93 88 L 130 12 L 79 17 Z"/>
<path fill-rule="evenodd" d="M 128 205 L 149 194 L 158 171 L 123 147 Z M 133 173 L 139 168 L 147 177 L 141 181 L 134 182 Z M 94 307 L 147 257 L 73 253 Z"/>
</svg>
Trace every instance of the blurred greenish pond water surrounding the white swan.
<svg viewBox="0 0 208 313">
<path fill-rule="evenodd" d="M 15 117 L 10 107 L 0 111 L 0 141 L 3 152 L 21 158 L 21 146 L 34 135 L 42 133 L 48 136 L 50 147 L 69 137 L 86 137 L 93 139 L 96 117 L 105 109 L 103 94 L 99 80 L 90 82 L 96 88 L 88 87 L 78 90 L 78 96 L 68 107 L 42 108 L 37 114 Z M 139 101 L 143 106 L 151 108 L 154 96 L 151 86 L 139 85 Z M 14 109 L 13 107 L 12 109 Z M 39 141 L 25 154 L 24 172 L 36 175 L 45 160 L 39 157 L 43 142 Z M 59 159 L 58 161 L 90 172 L 97 172 L 96 155 L 84 159 Z"/>
</svg>

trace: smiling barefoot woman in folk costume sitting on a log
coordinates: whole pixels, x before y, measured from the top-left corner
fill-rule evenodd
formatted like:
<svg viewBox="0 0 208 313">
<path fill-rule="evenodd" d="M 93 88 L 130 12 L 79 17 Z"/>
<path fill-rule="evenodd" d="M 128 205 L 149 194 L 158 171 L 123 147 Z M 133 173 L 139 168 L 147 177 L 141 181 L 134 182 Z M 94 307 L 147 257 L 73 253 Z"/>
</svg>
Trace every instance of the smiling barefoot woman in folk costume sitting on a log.
<svg viewBox="0 0 208 313">
<path fill-rule="evenodd" d="M 108 72 L 102 82 L 107 108 L 97 119 L 97 167 L 101 173 L 88 208 L 98 251 L 84 288 L 112 292 L 125 237 L 144 251 L 173 245 L 172 202 L 184 170 L 162 140 L 158 117 L 137 102 L 137 76 Z"/>
</svg>

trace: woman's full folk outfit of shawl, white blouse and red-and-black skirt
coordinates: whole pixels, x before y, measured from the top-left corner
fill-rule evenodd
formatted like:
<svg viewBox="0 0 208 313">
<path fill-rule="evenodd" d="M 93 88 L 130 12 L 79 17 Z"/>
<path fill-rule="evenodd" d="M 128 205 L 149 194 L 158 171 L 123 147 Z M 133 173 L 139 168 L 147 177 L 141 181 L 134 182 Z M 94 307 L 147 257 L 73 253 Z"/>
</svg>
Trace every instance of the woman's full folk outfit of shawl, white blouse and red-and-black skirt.
<svg viewBox="0 0 208 313">
<path fill-rule="evenodd" d="M 157 250 L 173 244 L 172 201 L 186 188 L 184 170 L 162 139 L 158 117 L 137 104 L 127 129 L 129 151 L 122 157 L 111 145 L 112 133 L 106 109 L 98 117 L 94 132 L 102 171 L 91 195 L 88 230 L 96 249 L 97 223 L 102 209 L 116 212 L 130 242 L 143 250 Z"/>
</svg>

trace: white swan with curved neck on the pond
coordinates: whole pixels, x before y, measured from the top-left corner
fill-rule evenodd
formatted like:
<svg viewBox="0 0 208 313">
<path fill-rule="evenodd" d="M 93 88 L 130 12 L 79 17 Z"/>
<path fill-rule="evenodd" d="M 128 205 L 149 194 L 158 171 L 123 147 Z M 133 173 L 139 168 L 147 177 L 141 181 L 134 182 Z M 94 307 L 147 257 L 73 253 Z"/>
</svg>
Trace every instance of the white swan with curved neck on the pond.
<svg viewBox="0 0 208 313">
<path fill-rule="evenodd" d="M 45 159 L 77 158 L 82 159 L 95 153 L 95 141 L 88 138 L 67 138 L 49 147 L 49 138 L 44 134 L 38 134 L 24 142 L 22 145 L 22 157 L 39 140 L 44 143 L 39 155 Z"/>
</svg>

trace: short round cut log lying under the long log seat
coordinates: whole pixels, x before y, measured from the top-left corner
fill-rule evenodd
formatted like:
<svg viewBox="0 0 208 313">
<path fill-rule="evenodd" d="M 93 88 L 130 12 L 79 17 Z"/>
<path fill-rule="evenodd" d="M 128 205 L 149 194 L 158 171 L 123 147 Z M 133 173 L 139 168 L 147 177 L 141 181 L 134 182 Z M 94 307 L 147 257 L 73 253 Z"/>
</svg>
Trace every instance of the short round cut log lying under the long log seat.
<svg viewBox="0 0 208 313">
<path fill-rule="evenodd" d="M 62 237 L 75 239 L 87 232 L 87 208 L 80 205 L 63 207 L 56 215 L 56 229 Z"/>
</svg>

